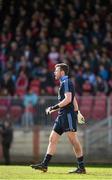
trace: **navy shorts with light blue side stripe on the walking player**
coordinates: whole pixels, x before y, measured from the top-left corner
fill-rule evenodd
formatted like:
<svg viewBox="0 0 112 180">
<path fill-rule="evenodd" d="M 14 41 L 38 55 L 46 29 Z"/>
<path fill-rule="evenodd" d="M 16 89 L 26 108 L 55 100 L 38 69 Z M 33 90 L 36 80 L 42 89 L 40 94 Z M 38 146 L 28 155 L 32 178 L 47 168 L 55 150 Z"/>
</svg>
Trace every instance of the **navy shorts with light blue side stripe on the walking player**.
<svg viewBox="0 0 112 180">
<path fill-rule="evenodd" d="M 63 113 L 57 116 L 53 130 L 62 135 L 64 132 L 77 131 L 77 114 L 73 112 Z"/>
</svg>

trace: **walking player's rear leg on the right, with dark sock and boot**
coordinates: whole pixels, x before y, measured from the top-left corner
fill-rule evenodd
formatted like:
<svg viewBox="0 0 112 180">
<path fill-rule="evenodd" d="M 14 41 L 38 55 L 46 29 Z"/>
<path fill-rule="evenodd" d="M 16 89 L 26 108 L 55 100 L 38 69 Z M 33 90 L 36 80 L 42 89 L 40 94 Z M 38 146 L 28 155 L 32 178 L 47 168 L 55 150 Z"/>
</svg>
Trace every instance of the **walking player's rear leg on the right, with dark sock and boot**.
<svg viewBox="0 0 112 180">
<path fill-rule="evenodd" d="M 66 134 L 68 136 L 70 143 L 73 146 L 73 151 L 75 153 L 75 156 L 77 158 L 77 163 L 78 163 L 78 169 L 73 170 L 70 173 L 86 173 L 85 167 L 84 167 L 84 161 L 83 161 L 83 150 L 82 150 L 80 141 L 78 139 L 77 132 L 69 131 Z"/>
</svg>

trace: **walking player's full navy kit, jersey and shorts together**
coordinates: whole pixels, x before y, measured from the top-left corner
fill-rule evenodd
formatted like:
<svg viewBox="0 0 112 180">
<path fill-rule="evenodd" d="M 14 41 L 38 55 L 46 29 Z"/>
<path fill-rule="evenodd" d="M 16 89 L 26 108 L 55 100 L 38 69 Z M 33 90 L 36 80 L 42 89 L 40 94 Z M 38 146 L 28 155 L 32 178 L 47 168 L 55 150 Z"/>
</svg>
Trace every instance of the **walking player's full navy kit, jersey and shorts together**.
<svg viewBox="0 0 112 180">
<path fill-rule="evenodd" d="M 75 113 L 73 105 L 73 99 L 75 96 L 74 86 L 68 76 L 63 76 L 61 78 L 60 88 L 58 92 L 59 102 L 65 98 L 65 93 L 67 92 L 71 92 L 72 100 L 68 105 L 60 108 L 59 115 L 57 116 L 53 126 L 53 130 L 59 135 L 68 131 L 77 131 L 77 113 Z"/>
</svg>

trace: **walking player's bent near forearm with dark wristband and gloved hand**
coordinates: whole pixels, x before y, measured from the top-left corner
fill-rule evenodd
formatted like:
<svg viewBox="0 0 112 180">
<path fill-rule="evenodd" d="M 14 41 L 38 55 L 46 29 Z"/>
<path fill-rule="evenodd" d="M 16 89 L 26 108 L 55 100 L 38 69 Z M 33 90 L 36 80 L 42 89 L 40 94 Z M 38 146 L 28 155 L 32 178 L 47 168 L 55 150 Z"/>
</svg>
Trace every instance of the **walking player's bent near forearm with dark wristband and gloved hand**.
<svg viewBox="0 0 112 180">
<path fill-rule="evenodd" d="M 66 92 L 64 95 L 65 95 L 65 98 L 61 102 L 59 102 L 58 104 L 56 104 L 54 106 L 48 107 L 46 109 L 47 114 L 51 114 L 52 112 L 57 111 L 59 108 L 62 108 L 64 106 L 68 105 L 71 102 L 72 93 L 71 92 Z"/>
</svg>

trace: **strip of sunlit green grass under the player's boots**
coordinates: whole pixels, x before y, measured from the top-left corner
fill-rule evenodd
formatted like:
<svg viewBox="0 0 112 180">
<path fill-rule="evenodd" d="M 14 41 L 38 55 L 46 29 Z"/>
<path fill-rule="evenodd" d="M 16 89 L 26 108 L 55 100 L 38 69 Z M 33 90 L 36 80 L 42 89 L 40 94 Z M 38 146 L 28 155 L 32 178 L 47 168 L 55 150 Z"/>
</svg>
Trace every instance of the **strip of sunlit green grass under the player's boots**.
<svg viewBox="0 0 112 180">
<path fill-rule="evenodd" d="M 47 173 L 33 170 L 29 166 L 0 166 L 0 180 L 72 180 L 72 179 L 85 179 L 85 180 L 102 180 L 112 179 L 112 166 L 88 166 L 86 168 L 87 174 L 77 175 L 68 174 L 71 170 L 70 166 L 50 166 Z"/>
</svg>

